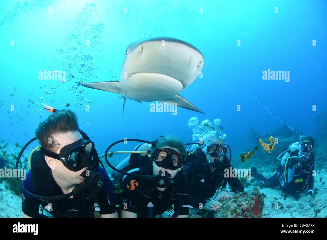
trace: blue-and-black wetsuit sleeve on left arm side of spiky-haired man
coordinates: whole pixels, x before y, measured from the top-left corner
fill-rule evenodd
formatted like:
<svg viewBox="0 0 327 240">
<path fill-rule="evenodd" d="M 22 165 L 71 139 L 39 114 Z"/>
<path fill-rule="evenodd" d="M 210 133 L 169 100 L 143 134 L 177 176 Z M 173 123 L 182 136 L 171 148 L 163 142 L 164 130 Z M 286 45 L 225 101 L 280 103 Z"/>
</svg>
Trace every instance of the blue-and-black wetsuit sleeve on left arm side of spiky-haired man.
<svg viewBox="0 0 327 240">
<path fill-rule="evenodd" d="M 26 188 L 27 191 L 34 193 L 33 183 L 32 183 L 32 172 L 28 171 L 26 175 L 26 179 L 23 181 L 23 187 Z M 36 198 L 32 198 L 30 195 L 26 193 L 22 189 L 22 211 L 27 216 L 30 217 L 40 217 L 39 215 L 39 200 Z"/>
</svg>

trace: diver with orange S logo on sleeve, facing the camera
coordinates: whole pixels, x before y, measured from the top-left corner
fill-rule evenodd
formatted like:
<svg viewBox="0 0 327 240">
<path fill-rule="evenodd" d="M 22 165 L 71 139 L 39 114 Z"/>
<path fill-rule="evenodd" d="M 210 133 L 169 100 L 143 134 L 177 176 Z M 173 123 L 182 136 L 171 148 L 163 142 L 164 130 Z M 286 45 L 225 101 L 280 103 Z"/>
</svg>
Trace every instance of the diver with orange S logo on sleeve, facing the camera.
<svg viewBox="0 0 327 240">
<path fill-rule="evenodd" d="M 161 136 L 148 152 L 151 157 L 134 153 L 129 157 L 127 167 L 135 168 L 122 178 L 123 191 L 117 199 L 121 216 L 154 217 L 174 210 L 172 217 L 189 217 L 189 206 L 184 205 L 189 194 L 188 181 L 182 170 L 186 157 L 183 142 L 172 136 Z"/>
</svg>

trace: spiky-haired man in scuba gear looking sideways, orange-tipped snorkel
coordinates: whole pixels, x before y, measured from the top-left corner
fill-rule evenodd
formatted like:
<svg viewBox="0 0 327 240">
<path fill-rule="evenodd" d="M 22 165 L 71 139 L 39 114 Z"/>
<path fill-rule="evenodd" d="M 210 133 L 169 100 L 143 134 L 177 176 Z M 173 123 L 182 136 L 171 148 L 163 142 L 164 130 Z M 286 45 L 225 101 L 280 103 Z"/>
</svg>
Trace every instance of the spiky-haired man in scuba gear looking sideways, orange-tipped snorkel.
<svg viewBox="0 0 327 240">
<path fill-rule="evenodd" d="M 48 109 L 47 109 L 48 110 Z M 117 217 L 113 186 L 99 166 L 94 142 L 79 129 L 71 110 L 56 110 L 41 122 L 20 152 L 38 140 L 31 153 L 30 170 L 22 187 L 23 217 Z M 101 163 L 101 162 L 100 162 Z M 101 163 L 102 165 L 102 163 Z"/>
</svg>

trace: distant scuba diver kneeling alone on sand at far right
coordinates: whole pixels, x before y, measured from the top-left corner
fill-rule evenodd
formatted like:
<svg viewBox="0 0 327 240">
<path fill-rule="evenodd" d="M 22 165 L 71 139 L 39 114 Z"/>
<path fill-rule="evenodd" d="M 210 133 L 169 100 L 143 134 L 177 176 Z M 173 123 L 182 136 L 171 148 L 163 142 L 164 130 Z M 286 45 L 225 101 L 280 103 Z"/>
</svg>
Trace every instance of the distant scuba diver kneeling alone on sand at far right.
<svg viewBox="0 0 327 240">
<path fill-rule="evenodd" d="M 275 173 L 268 179 L 252 167 L 252 176 L 265 187 L 274 188 L 278 185 L 283 189 L 282 196 L 288 194 L 301 202 L 309 202 L 312 198 L 316 165 L 316 154 L 313 152 L 315 139 L 312 136 L 301 136 L 299 142 L 294 142 L 289 149 L 278 156 Z M 285 153 L 285 154 L 284 154 Z M 284 154 L 283 158 L 280 156 Z M 308 189 L 305 196 L 301 196 Z"/>
</svg>

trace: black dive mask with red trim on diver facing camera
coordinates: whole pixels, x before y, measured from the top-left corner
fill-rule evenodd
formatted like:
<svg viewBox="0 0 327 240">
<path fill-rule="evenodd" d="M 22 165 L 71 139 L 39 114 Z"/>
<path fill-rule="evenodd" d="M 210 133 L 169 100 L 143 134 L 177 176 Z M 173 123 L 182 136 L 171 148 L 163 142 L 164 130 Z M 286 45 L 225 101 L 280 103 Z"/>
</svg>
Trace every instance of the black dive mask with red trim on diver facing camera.
<svg viewBox="0 0 327 240">
<path fill-rule="evenodd" d="M 184 156 L 171 148 L 157 148 L 152 154 L 152 161 L 158 167 L 176 170 L 183 167 Z"/>
</svg>

